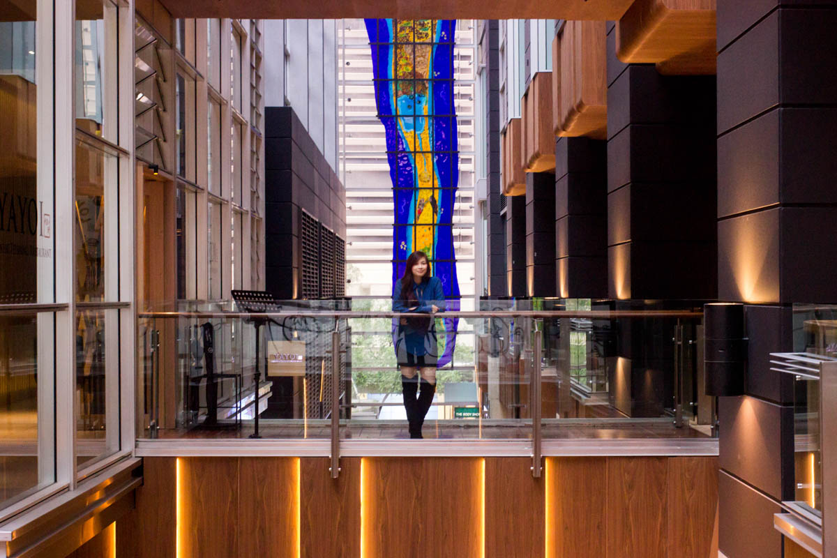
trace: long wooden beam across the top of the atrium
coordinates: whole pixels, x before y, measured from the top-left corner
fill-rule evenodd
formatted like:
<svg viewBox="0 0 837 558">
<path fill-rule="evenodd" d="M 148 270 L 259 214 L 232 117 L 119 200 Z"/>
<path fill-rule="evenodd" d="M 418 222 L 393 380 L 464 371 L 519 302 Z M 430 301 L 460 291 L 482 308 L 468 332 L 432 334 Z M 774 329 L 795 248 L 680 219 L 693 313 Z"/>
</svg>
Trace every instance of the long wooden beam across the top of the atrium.
<svg viewBox="0 0 837 558">
<path fill-rule="evenodd" d="M 614 21 L 622 17 L 634 0 L 562 0 L 559 3 L 531 0 L 480 2 L 480 0 L 398 0 L 376 3 L 369 0 L 324 0 L 309 3 L 289 0 L 165 0 L 175 18 L 262 18 L 262 19 L 340 19 L 340 18 L 434 18 L 508 19 L 560 18 Z"/>
</svg>

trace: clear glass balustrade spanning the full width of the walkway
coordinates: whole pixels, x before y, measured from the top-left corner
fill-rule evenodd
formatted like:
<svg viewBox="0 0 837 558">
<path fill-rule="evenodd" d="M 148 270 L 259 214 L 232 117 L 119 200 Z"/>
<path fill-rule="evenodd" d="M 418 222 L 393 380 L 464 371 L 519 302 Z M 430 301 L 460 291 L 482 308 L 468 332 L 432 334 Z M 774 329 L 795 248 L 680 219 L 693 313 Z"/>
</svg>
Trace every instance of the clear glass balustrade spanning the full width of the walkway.
<svg viewBox="0 0 837 558">
<path fill-rule="evenodd" d="M 332 408 L 343 439 L 409 438 L 408 407 L 424 409 L 424 438 L 529 439 L 536 416 L 544 438 L 711 435 L 697 302 L 491 299 L 409 320 L 389 298 L 159 307 L 140 313 L 141 438 L 245 438 L 256 416 L 264 438 L 329 438 Z M 411 387 L 397 354 L 419 321 L 438 365 L 424 396 L 420 366 Z"/>
</svg>

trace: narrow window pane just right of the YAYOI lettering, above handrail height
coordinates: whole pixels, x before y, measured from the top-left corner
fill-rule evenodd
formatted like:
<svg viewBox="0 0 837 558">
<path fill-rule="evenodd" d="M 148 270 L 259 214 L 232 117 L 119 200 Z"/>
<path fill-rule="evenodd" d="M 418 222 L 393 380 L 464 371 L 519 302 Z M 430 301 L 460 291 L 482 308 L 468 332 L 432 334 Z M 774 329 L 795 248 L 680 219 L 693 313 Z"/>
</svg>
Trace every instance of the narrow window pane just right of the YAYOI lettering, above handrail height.
<svg viewBox="0 0 837 558">
<path fill-rule="evenodd" d="M 105 293 L 105 193 L 110 206 L 116 201 L 119 163 L 115 155 L 105 153 L 85 141 L 75 146 L 75 264 L 76 299 L 104 300 Z M 109 219 L 113 215 L 108 216 Z M 108 231 L 116 234 L 116 228 Z M 114 238 L 116 241 L 116 238 Z M 116 242 L 111 243 L 116 247 Z M 112 270 L 111 270 L 112 271 Z M 111 285 L 111 288 L 116 285 Z M 116 299 L 115 292 L 109 298 Z"/>
</svg>

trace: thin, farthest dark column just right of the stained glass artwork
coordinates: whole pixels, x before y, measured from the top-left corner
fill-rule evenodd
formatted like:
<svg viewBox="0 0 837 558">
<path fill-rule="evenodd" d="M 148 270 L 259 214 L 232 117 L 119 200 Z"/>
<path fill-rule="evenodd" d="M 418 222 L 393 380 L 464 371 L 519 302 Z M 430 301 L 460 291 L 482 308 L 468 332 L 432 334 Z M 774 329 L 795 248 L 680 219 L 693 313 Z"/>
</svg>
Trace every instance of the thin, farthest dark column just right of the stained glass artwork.
<svg viewBox="0 0 837 558">
<path fill-rule="evenodd" d="M 484 23 L 483 44 L 485 69 L 488 72 L 485 88 L 485 107 L 487 122 L 485 126 L 485 146 L 487 147 L 486 175 L 488 177 L 486 206 L 488 207 L 488 294 L 506 296 L 506 228 L 501 212 L 500 161 L 500 23 L 496 19 Z"/>
</svg>

